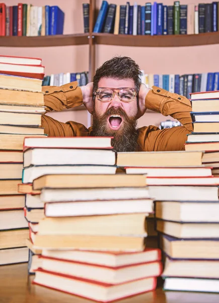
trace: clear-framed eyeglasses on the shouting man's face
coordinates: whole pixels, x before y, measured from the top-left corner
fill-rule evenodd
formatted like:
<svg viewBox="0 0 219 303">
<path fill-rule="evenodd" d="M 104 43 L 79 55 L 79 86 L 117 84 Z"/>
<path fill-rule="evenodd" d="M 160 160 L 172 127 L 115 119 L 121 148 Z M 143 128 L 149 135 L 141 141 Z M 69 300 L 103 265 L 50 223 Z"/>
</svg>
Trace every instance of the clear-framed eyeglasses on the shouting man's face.
<svg viewBox="0 0 219 303">
<path fill-rule="evenodd" d="M 137 95 L 134 88 L 131 87 L 121 87 L 121 88 L 109 88 L 109 87 L 99 87 L 96 91 L 97 99 L 102 102 L 111 101 L 115 94 L 122 102 L 131 102 Z"/>
</svg>

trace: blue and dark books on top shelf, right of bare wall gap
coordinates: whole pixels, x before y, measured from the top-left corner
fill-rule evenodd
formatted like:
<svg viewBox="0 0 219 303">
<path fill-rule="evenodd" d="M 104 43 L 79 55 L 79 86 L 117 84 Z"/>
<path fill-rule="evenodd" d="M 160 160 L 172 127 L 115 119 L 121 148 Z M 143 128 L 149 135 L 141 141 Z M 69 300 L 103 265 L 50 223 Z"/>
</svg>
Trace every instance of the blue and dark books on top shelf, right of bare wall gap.
<svg viewBox="0 0 219 303">
<path fill-rule="evenodd" d="M 83 4 L 84 31 L 89 32 L 89 4 Z M 129 35 L 198 34 L 219 30 L 217 2 L 173 5 L 145 3 L 145 6 L 108 4 L 103 1 L 94 32 Z"/>
</svg>

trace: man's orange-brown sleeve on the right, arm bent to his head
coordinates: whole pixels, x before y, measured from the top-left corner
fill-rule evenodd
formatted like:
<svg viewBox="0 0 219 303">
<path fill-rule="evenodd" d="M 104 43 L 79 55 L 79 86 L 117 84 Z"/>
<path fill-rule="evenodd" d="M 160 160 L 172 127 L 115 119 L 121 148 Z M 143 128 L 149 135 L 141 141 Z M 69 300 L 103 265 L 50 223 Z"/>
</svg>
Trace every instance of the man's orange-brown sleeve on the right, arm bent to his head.
<svg viewBox="0 0 219 303">
<path fill-rule="evenodd" d="M 139 150 L 184 150 L 187 134 L 193 130 L 190 101 L 177 93 L 153 86 L 145 97 L 145 107 L 177 119 L 183 126 L 160 130 L 156 126 L 139 129 Z"/>
</svg>

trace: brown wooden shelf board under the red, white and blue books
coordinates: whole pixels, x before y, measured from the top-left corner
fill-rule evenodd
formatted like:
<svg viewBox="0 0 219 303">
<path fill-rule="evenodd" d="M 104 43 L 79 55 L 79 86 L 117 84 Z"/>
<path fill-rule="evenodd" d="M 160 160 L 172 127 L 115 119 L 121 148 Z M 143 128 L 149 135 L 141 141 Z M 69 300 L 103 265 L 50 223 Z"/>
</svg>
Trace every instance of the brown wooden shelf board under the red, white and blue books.
<svg viewBox="0 0 219 303">
<path fill-rule="evenodd" d="M 7 47 L 46 47 L 89 44 L 88 34 L 51 35 L 37 37 L 0 37 L 0 46 Z"/>
</svg>

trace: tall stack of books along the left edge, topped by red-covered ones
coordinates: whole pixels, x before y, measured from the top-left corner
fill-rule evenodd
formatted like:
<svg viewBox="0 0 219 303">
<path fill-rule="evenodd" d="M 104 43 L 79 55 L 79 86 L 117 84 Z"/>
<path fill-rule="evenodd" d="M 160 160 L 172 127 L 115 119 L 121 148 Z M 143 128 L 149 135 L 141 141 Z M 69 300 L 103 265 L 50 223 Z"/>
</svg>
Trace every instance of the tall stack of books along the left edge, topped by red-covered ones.
<svg viewBox="0 0 219 303">
<path fill-rule="evenodd" d="M 40 59 L 0 56 L 0 265 L 27 262 L 23 140 L 42 135 L 44 68 Z"/>
</svg>

